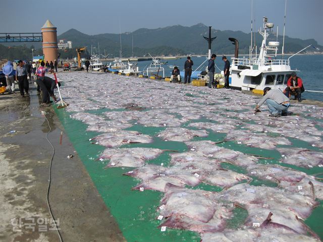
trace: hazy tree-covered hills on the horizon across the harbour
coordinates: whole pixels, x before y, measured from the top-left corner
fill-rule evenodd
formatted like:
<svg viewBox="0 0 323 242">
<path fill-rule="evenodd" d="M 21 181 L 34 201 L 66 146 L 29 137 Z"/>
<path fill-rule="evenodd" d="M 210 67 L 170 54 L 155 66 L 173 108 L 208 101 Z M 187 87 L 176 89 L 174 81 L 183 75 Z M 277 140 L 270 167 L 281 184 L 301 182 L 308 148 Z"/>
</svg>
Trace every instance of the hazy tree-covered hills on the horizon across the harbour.
<svg viewBox="0 0 323 242">
<path fill-rule="evenodd" d="M 208 27 L 204 24 L 196 24 L 190 27 L 174 25 L 165 28 L 157 29 L 138 29 L 134 32 L 121 34 L 122 39 L 122 56 L 145 56 L 150 53 L 154 56 L 178 56 L 178 55 L 204 55 L 207 52 L 207 42 L 203 36 L 208 35 Z M 212 29 L 212 37 L 217 36 L 217 39 L 212 42 L 212 52 L 222 54 L 233 54 L 234 45 L 228 40 L 229 37 L 238 39 L 239 53 L 248 54 L 251 33 L 231 30 Z M 276 33 L 271 33 L 268 41 L 276 41 Z M 87 52 L 84 57 L 87 57 L 91 52 L 91 45 L 95 46 L 100 53 L 109 53 L 109 57 L 118 57 L 120 55 L 120 34 L 84 34 L 76 29 L 70 29 L 58 36 L 58 39 L 72 41 L 71 49 L 60 50 L 61 58 L 73 58 L 76 56 L 76 47 L 87 46 Z M 259 47 L 262 37 L 256 33 L 256 44 Z M 278 36 L 278 41 L 283 42 L 283 36 Z M 133 43 L 133 45 L 132 45 Z M 285 36 L 285 53 L 295 53 L 307 45 L 312 44 L 319 48 L 308 48 L 306 53 L 322 53 L 323 46 L 318 45 L 314 39 L 302 40 L 299 38 L 290 38 Z M 0 56 L 9 59 L 30 59 L 31 49 L 36 49 L 34 55 L 41 54 L 41 43 L 30 43 L 23 46 L 12 46 L 10 44 L 0 45 Z M 281 53 L 281 46 L 279 53 Z"/>
</svg>

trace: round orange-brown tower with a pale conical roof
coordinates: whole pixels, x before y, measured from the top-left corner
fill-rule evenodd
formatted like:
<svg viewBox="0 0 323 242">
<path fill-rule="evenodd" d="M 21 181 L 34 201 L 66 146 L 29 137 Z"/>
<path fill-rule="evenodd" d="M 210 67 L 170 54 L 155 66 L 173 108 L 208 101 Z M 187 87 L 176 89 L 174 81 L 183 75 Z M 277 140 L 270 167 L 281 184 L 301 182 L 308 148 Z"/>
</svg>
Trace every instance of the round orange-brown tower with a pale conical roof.
<svg viewBox="0 0 323 242">
<path fill-rule="evenodd" d="M 42 51 L 45 61 L 53 63 L 58 58 L 57 28 L 47 20 L 41 27 Z"/>
</svg>

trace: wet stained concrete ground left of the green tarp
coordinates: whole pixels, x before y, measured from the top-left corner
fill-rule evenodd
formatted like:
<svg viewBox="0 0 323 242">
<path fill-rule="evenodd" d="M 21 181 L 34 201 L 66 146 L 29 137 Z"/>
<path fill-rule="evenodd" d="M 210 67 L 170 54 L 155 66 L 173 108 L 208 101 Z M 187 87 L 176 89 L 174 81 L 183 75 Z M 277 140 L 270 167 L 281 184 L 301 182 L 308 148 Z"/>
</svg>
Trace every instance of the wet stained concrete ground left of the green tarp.
<svg viewBox="0 0 323 242">
<path fill-rule="evenodd" d="M 38 108 L 40 96 L 35 88 L 30 93 L 0 95 L 0 240 L 55 242 L 60 239 L 50 230 L 46 202 L 53 152 L 45 139 L 49 127 Z M 43 109 L 55 147 L 49 202 L 63 241 L 125 241 L 52 108 Z M 67 159 L 69 154 L 74 157 Z"/>
</svg>

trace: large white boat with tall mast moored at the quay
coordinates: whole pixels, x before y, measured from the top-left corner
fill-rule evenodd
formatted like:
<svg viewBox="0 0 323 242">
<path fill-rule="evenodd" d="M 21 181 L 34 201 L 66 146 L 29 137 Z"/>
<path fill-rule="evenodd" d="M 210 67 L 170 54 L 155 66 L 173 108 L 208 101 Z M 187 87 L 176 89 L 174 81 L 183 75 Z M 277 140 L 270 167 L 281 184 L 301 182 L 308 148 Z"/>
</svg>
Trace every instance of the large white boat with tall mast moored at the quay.
<svg viewBox="0 0 323 242">
<path fill-rule="evenodd" d="M 268 23 L 267 18 L 263 18 L 263 31 L 259 31 L 263 40 L 260 47 L 259 55 L 249 58 L 238 57 L 238 41 L 235 41 L 236 51 L 235 57 L 231 63 L 231 83 L 230 86 L 241 90 L 263 90 L 265 87 L 272 89 L 285 89 L 287 80 L 290 78 L 292 70 L 289 59 L 277 59 L 277 51 L 279 42 L 270 41 L 266 43 L 269 33 L 267 30 L 274 27 L 273 23 Z M 274 55 L 268 54 L 269 51 L 275 52 Z M 292 56 L 291 56 L 292 57 Z M 223 73 L 223 72 L 222 72 Z"/>
</svg>

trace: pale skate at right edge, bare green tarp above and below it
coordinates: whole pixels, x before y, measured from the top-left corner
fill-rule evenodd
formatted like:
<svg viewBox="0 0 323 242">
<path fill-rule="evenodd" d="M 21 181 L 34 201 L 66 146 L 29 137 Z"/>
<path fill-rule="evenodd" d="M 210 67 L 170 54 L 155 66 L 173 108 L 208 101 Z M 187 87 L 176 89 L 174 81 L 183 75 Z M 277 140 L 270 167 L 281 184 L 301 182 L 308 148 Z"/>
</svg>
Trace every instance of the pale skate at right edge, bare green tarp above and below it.
<svg viewBox="0 0 323 242">
<path fill-rule="evenodd" d="M 281 162 L 309 168 L 308 165 L 323 164 L 323 153 L 304 148 L 277 148 L 282 154 Z"/>
</svg>

